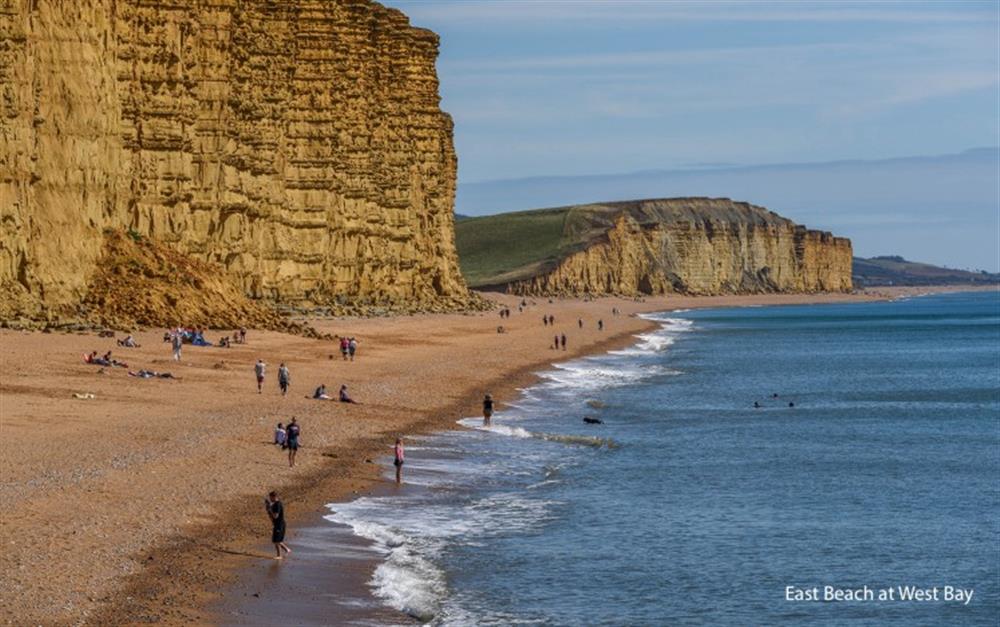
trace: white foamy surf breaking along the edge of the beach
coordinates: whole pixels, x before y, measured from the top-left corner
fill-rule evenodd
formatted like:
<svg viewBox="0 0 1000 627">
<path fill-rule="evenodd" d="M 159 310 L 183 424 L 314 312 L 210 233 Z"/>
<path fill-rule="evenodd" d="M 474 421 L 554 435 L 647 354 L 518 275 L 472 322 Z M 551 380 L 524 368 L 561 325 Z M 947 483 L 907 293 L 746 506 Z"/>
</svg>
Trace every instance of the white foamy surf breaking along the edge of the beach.
<svg viewBox="0 0 1000 627">
<path fill-rule="evenodd" d="M 551 493 L 545 488 L 565 481 L 561 468 L 585 456 L 566 455 L 555 445 L 522 446 L 518 440 L 594 449 L 619 446 L 609 437 L 525 428 L 533 418 L 549 415 L 553 403 L 565 400 L 567 393 L 582 401 L 589 397 L 589 390 L 681 374 L 646 357 L 668 350 L 680 334 L 691 330 L 692 321 L 669 314 L 643 317 L 660 328 L 637 335 L 635 345 L 623 351 L 556 364 L 540 373 L 543 382 L 521 390 L 518 400 L 507 406 L 502 422 L 483 425 L 481 418 L 464 418 L 458 422 L 470 430 L 464 435 L 450 434 L 447 445 L 434 438 L 414 442 L 410 450 L 416 455 L 407 465 L 413 474 L 407 483 L 421 486 L 419 491 L 328 506 L 327 520 L 349 526 L 382 555 L 369 581 L 378 599 L 421 622 L 488 622 L 488 616 L 468 613 L 461 593 L 451 595 L 441 564 L 447 562 L 450 547 L 476 546 L 491 536 L 537 529 L 554 517 L 557 502 L 541 498 Z M 510 445 L 482 440 L 476 432 L 510 438 Z M 504 453 L 494 454 L 498 448 Z M 544 471 L 538 476 L 541 468 Z M 510 491 L 512 485 L 520 487 Z M 501 491 L 483 494 L 494 487 Z M 504 614 L 500 622 L 513 624 L 522 619 Z"/>
</svg>

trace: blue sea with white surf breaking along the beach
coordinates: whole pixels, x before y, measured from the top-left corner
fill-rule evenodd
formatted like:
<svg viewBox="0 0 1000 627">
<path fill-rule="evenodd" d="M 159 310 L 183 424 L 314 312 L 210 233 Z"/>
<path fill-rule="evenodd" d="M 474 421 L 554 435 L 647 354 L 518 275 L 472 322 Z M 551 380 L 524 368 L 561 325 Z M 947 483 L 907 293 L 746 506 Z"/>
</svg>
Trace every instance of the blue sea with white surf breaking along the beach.
<svg viewBox="0 0 1000 627">
<path fill-rule="evenodd" d="M 997 624 L 997 292 L 651 318 L 492 427 L 412 441 L 398 495 L 331 505 L 376 543 L 382 602 L 455 625 Z"/>
</svg>

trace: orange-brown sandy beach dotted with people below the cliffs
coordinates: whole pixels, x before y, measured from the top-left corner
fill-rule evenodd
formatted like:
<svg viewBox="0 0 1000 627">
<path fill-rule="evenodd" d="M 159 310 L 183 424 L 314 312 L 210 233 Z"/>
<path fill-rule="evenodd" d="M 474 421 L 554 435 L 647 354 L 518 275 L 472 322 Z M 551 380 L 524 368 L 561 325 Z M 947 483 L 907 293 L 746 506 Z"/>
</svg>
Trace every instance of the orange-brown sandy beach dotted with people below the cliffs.
<svg viewBox="0 0 1000 627">
<path fill-rule="evenodd" d="M 267 491 L 285 501 L 294 548 L 299 521 L 381 481 L 374 459 L 397 434 L 456 428 L 458 418 L 479 413 L 486 392 L 502 407 L 548 364 L 630 343 L 651 326 L 637 313 L 932 291 L 943 290 L 536 299 L 524 313 L 519 298 L 490 294 L 511 307 L 509 320 L 494 311 L 310 321 L 357 337 L 353 362 L 328 340 L 255 330 L 232 348 L 185 346 L 179 363 L 163 329 L 136 333 L 140 348 L 94 333 L 0 331 L 0 613 L 12 625 L 210 622 L 203 608 L 234 573 L 272 557 L 259 548 L 270 531 L 261 511 Z M 555 325 L 544 326 L 543 315 L 555 316 Z M 550 349 L 556 333 L 567 335 L 568 350 Z M 213 342 L 221 335 L 207 334 Z M 93 350 L 111 350 L 128 368 L 84 363 Z M 267 363 L 262 394 L 258 358 Z M 285 397 L 281 362 L 291 371 Z M 128 376 L 140 368 L 177 379 Z M 334 395 L 347 384 L 362 404 L 308 398 L 321 383 Z M 289 468 L 271 439 L 274 425 L 293 416 L 303 448 Z"/>
</svg>

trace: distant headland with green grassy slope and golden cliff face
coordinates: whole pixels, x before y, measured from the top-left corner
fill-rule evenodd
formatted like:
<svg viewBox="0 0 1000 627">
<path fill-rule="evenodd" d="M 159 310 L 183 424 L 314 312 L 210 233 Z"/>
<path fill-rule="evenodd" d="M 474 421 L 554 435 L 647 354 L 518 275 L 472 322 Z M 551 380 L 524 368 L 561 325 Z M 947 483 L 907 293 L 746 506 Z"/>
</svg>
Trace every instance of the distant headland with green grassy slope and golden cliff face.
<svg viewBox="0 0 1000 627">
<path fill-rule="evenodd" d="M 516 294 L 851 289 L 851 242 L 725 198 L 638 200 L 462 220 L 474 287 Z"/>
</svg>

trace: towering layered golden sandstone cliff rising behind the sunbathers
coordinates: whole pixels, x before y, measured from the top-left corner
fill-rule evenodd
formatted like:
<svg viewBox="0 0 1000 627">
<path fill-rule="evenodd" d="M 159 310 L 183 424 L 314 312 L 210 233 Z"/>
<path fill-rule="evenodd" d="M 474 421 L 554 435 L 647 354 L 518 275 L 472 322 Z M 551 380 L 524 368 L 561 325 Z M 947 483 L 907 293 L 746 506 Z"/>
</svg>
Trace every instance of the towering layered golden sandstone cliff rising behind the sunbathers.
<svg viewBox="0 0 1000 627">
<path fill-rule="evenodd" d="M 0 0 L 0 296 L 130 229 L 282 302 L 467 302 L 438 38 L 367 0 Z"/>
</svg>

